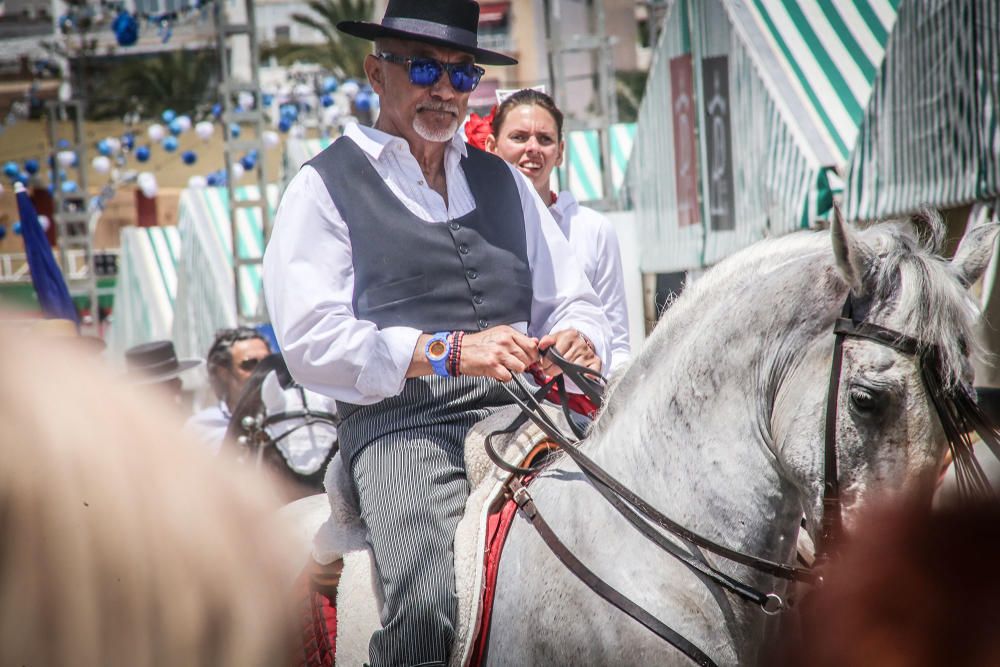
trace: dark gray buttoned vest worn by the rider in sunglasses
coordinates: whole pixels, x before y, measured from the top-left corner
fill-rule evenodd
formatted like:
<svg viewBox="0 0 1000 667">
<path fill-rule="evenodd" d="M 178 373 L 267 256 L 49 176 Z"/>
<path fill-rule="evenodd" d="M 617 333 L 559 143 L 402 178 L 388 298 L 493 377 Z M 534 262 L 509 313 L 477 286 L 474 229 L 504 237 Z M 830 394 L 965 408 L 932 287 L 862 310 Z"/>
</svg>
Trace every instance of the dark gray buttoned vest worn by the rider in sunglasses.
<svg viewBox="0 0 1000 667">
<path fill-rule="evenodd" d="M 347 137 L 306 164 L 350 232 L 357 318 L 429 333 L 531 320 L 524 213 L 503 160 L 469 147 L 461 165 L 476 208 L 439 223 L 411 213 Z"/>
</svg>

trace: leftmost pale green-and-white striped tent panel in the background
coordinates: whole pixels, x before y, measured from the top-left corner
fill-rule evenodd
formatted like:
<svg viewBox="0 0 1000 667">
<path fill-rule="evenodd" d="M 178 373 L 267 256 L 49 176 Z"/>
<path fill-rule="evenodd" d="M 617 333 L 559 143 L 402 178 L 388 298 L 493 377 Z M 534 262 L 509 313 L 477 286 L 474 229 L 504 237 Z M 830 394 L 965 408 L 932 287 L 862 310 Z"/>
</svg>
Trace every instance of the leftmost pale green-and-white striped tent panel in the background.
<svg viewBox="0 0 1000 667">
<path fill-rule="evenodd" d="M 108 353 L 171 337 L 181 240 L 176 227 L 123 227 Z"/>
</svg>

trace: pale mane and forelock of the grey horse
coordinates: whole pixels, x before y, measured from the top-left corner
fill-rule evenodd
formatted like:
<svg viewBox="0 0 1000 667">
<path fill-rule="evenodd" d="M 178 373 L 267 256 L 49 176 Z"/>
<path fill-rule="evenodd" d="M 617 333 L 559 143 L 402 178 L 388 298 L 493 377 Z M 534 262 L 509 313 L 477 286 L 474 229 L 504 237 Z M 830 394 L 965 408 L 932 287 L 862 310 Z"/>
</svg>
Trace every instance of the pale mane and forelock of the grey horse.
<svg viewBox="0 0 1000 667">
<path fill-rule="evenodd" d="M 974 335 L 979 309 L 948 260 L 939 254 L 945 238 L 940 216 L 921 211 L 907 219 L 854 229 L 852 235 L 870 251 L 872 259 L 864 276 L 871 320 L 921 341 L 925 346 L 921 352 L 933 347 L 946 389 L 968 384 L 972 372 L 969 356 L 980 351 Z M 656 368 L 658 355 L 676 347 L 678 340 L 697 326 L 702 310 L 737 298 L 733 292 L 739 287 L 754 285 L 777 271 L 795 271 L 797 280 L 815 284 L 814 290 L 836 291 L 843 296 L 848 290 L 836 268 L 828 232 L 797 232 L 734 253 L 684 286 L 629 367 L 616 373 L 604 412 L 614 412 L 619 402 L 643 391 L 646 370 Z M 831 323 L 843 305 L 843 296 L 830 299 Z M 602 422 L 606 426 L 608 421 L 598 419 L 595 434 L 603 430 Z"/>
</svg>

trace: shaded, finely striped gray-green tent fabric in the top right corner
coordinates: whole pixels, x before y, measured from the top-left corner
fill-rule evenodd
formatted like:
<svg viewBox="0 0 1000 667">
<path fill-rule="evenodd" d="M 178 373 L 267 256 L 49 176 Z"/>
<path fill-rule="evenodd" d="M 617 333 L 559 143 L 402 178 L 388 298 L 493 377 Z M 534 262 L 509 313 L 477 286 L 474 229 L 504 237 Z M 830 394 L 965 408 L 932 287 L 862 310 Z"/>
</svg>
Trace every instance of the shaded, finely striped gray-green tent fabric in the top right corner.
<svg viewBox="0 0 1000 667">
<path fill-rule="evenodd" d="M 855 219 L 1000 195 L 996 0 L 903 2 L 845 180 Z"/>
</svg>

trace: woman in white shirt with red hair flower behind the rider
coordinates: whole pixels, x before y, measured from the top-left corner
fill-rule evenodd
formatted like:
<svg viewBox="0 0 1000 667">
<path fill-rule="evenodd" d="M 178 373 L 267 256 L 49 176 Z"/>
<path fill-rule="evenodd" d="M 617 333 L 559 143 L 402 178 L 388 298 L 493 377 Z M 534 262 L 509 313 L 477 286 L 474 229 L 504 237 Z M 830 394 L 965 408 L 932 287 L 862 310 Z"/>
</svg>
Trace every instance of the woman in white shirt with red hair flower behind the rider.
<svg viewBox="0 0 1000 667">
<path fill-rule="evenodd" d="M 566 146 L 562 123 L 563 114 L 552 98 L 527 88 L 494 107 L 490 116 L 480 119 L 473 115 L 466 125 L 466 136 L 473 146 L 496 153 L 516 166 L 549 206 L 611 323 L 611 364 L 606 372 L 610 375 L 630 355 L 618 236 L 610 220 L 580 206 L 571 192 L 557 195 L 549 190 L 552 170 L 562 164 Z"/>
</svg>

